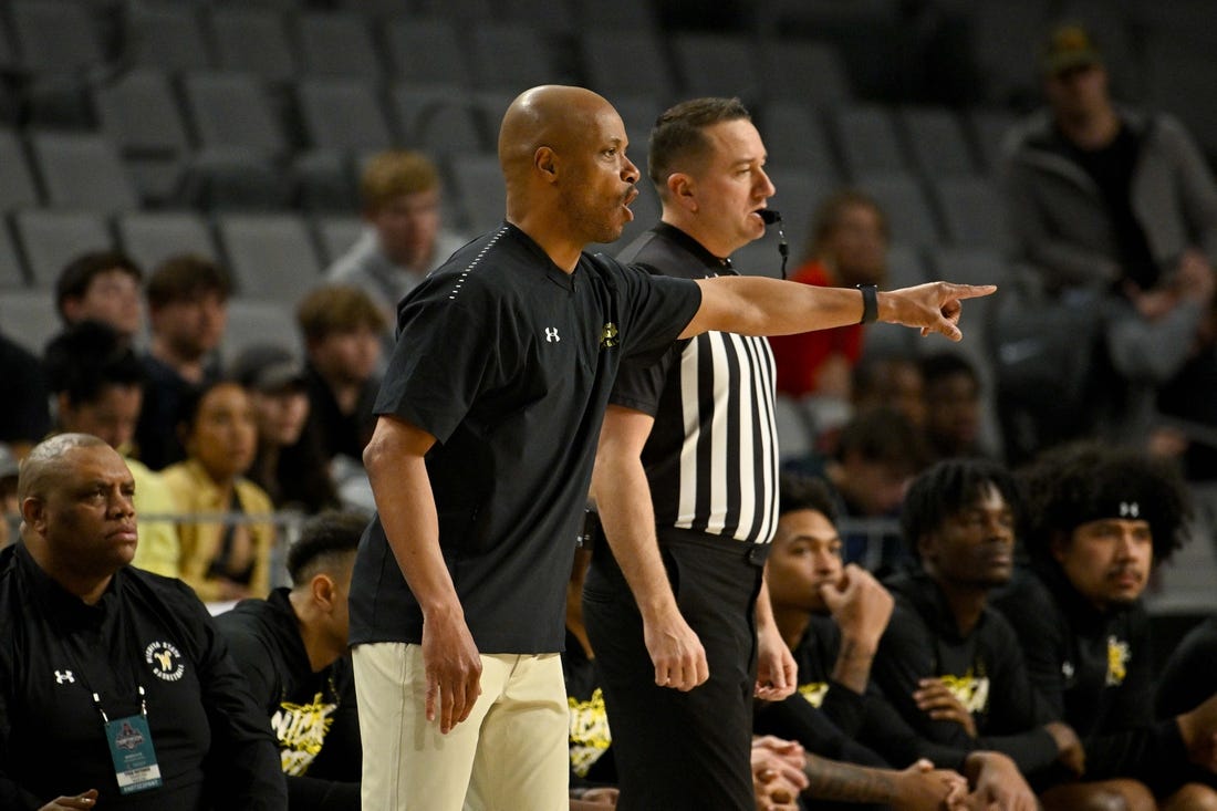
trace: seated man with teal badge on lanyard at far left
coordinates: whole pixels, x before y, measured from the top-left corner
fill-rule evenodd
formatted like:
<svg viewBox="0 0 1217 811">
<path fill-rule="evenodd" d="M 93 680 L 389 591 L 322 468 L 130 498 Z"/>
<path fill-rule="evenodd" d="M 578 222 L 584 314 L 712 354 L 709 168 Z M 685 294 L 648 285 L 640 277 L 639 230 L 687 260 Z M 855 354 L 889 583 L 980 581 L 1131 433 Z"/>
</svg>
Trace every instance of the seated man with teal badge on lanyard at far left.
<svg viewBox="0 0 1217 811">
<path fill-rule="evenodd" d="M 128 566 L 135 482 L 102 440 L 34 447 L 0 552 L 0 809 L 281 811 L 267 723 L 189 587 Z"/>
</svg>

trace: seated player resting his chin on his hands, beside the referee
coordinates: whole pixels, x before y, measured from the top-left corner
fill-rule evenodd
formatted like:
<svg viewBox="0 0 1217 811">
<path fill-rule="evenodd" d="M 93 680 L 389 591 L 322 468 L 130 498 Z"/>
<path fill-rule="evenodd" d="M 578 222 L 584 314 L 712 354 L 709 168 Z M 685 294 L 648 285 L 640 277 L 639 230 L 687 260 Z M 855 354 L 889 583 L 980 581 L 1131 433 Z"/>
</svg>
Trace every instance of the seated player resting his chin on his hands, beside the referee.
<svg viewBox="0 0 1217 811">
<path fill-rule="evenodd" d="M 893 602 L 865 570 L 842 563 L 834 520 L 832 497 L 823 481 L 783 474 L 765 578 L 774 620 L 798 665 L 798 692 L 758 707 L 757 731 L 856 764 L 905 766 L 926 759 L 968 774 L 974 799 L 1003 809 L 1034 807 L 1031 788 L 1008 756 L 921 738 L 871 682 L 871 662 Z M 935 714 L 961 712 L 958 699 L 941 686 L 919 698 L 919 706 Z"/>
</svg>

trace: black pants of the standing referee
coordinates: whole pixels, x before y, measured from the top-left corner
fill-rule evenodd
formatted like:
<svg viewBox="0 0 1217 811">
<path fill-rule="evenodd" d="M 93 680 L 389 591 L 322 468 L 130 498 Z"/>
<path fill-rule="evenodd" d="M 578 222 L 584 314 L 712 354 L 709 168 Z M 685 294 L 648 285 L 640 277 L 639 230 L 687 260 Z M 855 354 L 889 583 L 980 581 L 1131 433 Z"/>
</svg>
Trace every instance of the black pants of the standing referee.
<svg viewBox="0 0 1217 811">
<path fill-rule="evenodd" d="M 621 787 L 618 811 L 752 811 L 755 605 L 768 547 L 660 530 L 680 614 L 706 649 L 710 679 L 655 684 L 643 619 L 607 542 L 595 546 L 583 620 L 600 672 Z"/>
</svg>

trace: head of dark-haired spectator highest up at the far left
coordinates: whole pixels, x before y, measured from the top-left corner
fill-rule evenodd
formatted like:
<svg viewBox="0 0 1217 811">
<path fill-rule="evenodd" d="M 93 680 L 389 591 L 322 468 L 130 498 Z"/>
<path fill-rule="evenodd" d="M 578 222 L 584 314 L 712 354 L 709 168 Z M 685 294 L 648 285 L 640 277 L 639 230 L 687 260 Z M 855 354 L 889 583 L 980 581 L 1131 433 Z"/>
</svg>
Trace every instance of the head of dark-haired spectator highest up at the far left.
<svg viewBox="0 0 1217 811">
<path fill-rule="evenodd" d="M 92 251 L 72 259 L 55 280 L 55 307 L 65 326 L 102 321 L 130 345 L 144 328 L 144 273 L 118 251 Z"/>
</svg>

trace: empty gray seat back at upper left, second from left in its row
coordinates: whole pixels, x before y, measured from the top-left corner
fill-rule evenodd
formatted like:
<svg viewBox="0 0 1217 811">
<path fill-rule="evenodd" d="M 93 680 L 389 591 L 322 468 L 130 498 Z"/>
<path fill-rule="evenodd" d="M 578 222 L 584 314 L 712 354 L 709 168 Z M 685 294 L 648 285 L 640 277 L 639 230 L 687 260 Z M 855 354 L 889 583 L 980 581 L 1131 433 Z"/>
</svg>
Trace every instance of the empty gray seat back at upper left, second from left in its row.
<svg viewBox="0 0 1217 811">
<path fill-rule="evenodd" d="M 101 135 L 34 133 L 30 147 L 47 205 L 106 213 L 138 207 L 117 150 Z"/>
</svg>

